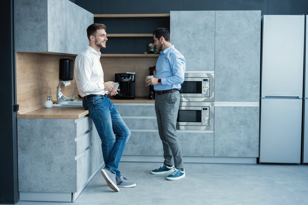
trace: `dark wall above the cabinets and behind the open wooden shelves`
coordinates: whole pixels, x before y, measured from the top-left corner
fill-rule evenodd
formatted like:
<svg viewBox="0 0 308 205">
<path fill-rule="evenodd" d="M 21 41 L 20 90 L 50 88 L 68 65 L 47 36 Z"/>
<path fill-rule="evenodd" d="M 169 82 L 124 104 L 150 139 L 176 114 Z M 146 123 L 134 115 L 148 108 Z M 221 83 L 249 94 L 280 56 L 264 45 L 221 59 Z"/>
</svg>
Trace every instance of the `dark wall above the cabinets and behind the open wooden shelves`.
<svg viewBox="0 0 308 205">
<path fill-rule="evenodd" d="M 73 1 L 73 0 L 72 0 Z M 169 14 L 170 11 L 261 10 L 265 14 L 308 14 L 308 0 L 74 0 L 92 14 Z M 170 28 L 169 18 L 94 18 L 107 26 L 107 34 L 151 34 Z M 108 36 L 108 35 L 107 35 Z M 143 53 L 153 37 L 110 37 L 102 53 Z"/>
</svg>

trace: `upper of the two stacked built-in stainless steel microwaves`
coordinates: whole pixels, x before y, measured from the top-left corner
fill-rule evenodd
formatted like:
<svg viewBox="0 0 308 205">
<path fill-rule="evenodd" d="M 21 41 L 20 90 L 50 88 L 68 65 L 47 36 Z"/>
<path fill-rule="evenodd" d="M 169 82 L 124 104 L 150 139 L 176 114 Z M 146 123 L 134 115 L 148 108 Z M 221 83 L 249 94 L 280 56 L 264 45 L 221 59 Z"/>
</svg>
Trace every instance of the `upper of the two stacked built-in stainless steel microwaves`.
<svg viewBox="0 0 308 205">
<path fill-rule="evenodd" d="M 214 73 L 185 73 L 180 97 L 182 102 L 214 102 Z"/>
</svg>

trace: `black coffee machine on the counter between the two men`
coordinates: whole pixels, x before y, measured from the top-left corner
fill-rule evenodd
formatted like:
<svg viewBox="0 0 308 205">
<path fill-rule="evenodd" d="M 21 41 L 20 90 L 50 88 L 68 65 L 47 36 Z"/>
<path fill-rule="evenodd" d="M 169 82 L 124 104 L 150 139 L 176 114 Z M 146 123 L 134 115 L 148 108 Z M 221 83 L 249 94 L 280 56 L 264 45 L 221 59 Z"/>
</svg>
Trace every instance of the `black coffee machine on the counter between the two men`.
<svg viewBox="0 0 308 205">
<path fill-rule="evenodd" d="M 135 99 L 135 74 L 115 73 L 115 82 L 119 83 L 120 89 L 115 99 Z"/>
</svg>

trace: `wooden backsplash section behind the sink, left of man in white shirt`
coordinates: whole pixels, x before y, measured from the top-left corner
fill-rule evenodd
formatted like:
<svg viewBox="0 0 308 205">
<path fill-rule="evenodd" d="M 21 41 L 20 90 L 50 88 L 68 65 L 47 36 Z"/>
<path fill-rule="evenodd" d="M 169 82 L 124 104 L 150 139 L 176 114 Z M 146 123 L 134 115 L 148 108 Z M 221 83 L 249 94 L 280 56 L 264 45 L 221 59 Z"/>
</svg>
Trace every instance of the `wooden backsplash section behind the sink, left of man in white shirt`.
<svg viewBox="0 0 308 205">
<path fill-rule="evenodd" d="M 57 99 L 57 86 L 59 79 L 59 61 L 61 58 L 74 59 L 74 56 L 16 53 L 16 92 L 19 111 L 44 104 L 47 95 Z M 71 85 L 61 85 L 63 94 L 71 97 L 76 81 Z M 79 94 L 76 88 L 74 95 Z"/>
</svg>

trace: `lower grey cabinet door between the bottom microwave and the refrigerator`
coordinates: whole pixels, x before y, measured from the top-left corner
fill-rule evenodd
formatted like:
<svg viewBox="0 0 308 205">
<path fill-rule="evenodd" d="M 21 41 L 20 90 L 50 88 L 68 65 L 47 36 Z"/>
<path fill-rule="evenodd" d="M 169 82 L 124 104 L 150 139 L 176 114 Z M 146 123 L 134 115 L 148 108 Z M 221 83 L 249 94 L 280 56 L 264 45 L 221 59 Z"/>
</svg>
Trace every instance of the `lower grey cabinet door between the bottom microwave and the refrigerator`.
<svg viewBox="0 0 308 205">
<path fill-rule="evenodd" d="M 259 156 L 259 107 L 215 106 L 214 156 Z"/>
</svg>

